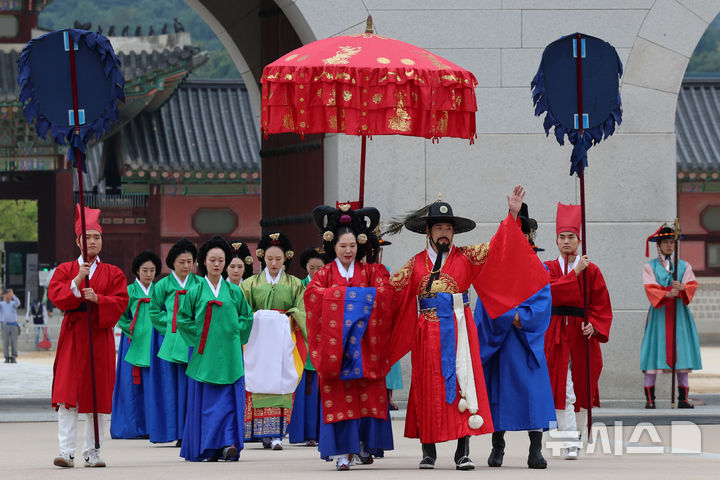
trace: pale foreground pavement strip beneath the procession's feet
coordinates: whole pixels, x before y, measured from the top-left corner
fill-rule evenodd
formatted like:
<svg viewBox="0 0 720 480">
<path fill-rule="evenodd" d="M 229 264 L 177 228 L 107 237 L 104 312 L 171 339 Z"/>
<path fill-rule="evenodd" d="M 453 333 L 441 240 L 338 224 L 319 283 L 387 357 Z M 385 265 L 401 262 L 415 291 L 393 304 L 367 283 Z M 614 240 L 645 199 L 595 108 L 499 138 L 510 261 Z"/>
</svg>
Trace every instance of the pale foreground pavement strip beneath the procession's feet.
<svg viewBox="0 0 720 480">
<path fill-rule="evenodd" d="M 81 426 L 82 427 L 82 426 Z M 132 479 L 140 475 L 143 480 L 155 478 L 331 478 L 339 475 L 332 463 L 319 459 L 317 450 L 304 446 L 286 446 L 282 452 L 263 450 L 257 444 L 250 444 L 241 453 L 237 463 L 191 463 L 178 457 L 179 449 L 166 445 L 152 445 L 146 440 L 106 440 L 103 458 L 108 463 L 105 469 L 82 468 L 81 462 L 74 469 L 60 469 L 52 465 L 56 454 L 56 424 L 52 422 L 5 423 L 2 429 L 3 447 L 0 449 L 0 476 L 3 479 L 70 479 L 105 478 Z M 487 467 L 490 451 L 490 437 L 474 437 L 471 442 L 471 457 L 477 466 L 474 472 L 454 470 L 452 455 L 454 443 L 438 445 L 436 471 L 419 471 L 420 448 L 417 440 L 402 437 L 402 422 L 393 421 L 395 450 L 387 452 L 386 458 L 379 459 L 372 466 L 356 466 L 349 474 L 353 478 L 373 480 L 399 479 L 421 475 L 433 478 L 478 478 L 478 475 L 496 478 L 715 478 L 720 461 L 720 426 L 702 426 L 702 447 L 690 454 L 670 453 L 671 435 L 668 427 L 658 427 L 660 443 L 652 444 L 650 434 L 645 432 L 638 440 L 631 439 L 633 429 L 622 429 L 622 448 L 615 443 L 614 429 L 609 429 L 609 451 L 603 453 L 600 447 L 595 453 L 583 452 L 577 461 L 552 457 L 546 449 L 548 469 L 529 471 L 527 461 L 527 435 L 523 432 L 509 432 L 502 468 Z M 82 428 L 80 428 L 82 431 Z M 642 446 L 659 446 L 660 453 L 628 453 L 628 449 Z M 631 451 L 631 450 L 630 450 Z M 328 477 L 325 477 L 328 475 Z"/>
</svg>

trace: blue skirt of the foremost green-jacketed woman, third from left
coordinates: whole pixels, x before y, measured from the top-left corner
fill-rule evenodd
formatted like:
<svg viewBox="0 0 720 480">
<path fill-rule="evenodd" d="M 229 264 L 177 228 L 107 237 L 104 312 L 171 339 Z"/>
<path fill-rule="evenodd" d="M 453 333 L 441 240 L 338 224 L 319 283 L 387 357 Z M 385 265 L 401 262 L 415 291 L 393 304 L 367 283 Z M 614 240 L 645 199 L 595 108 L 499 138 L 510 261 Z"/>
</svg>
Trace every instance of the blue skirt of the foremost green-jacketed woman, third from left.
<svg viewBox="0 0 720 480">
<path fill-rule="evenodd" d="M 200 462 L 218 458 L 225 447 L 243 448 L 245 377 L 231 385 L 188 379 L 188 410 L 180 456 Z M 237 460 L 238 456 L 233 460 Z"/>
</svg>

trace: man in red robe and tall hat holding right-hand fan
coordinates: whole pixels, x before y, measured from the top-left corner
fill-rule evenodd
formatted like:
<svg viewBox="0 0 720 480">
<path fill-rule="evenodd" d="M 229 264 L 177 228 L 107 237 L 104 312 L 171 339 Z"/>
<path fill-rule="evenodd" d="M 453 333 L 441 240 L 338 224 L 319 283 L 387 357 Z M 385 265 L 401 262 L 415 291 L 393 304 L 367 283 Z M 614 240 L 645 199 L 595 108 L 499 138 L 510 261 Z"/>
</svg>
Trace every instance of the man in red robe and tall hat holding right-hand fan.
<svg viewBox="0 0 720 480">
<path fill-rule="evenodd" d="M 584 428 L 587 409 L 600 406 L 600 343 L 608 341 L 612 323 L 612 307 L 605 279 L 587 255 L 578 255 L 580 221 L 580 205 L 558 203 L 555 229 L 560 256 L 557 260 L 545 262 L 550 271 L 552 294 L 552 317 L 545 332 L 545 356 L 555 399 L 557 428 L 564 439 L 563 455 L 569 460 L 578 458 L 582 445 L 578 426 L 580 431 Z M 587 325 L 583 312 L 584 278 L 588 281 Z M 586 337 L 590 346 L 592 406 L 587 401 Z M 585 412 L 576 418 L 580 409 L 585 409 Z"/>
</svg>

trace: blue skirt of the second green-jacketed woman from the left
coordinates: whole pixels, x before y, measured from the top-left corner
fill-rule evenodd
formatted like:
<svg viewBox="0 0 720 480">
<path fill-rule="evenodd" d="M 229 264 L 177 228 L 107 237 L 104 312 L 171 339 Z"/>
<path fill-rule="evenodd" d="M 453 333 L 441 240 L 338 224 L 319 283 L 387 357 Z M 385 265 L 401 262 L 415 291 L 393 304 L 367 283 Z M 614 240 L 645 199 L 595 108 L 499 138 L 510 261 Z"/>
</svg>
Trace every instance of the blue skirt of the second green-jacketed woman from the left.
<svg viewBox="0 0 720 480">
<path fill-rule="evenodd" d="M 164 335 L 153 328 L 150 341 L 150 380 L 145 383 L 152 408 L 146 415 L 147 430 L 153 443 L 182 439 L 187 411 L 187 377 L 182 363 L 158 358 Z"/>
</svg>

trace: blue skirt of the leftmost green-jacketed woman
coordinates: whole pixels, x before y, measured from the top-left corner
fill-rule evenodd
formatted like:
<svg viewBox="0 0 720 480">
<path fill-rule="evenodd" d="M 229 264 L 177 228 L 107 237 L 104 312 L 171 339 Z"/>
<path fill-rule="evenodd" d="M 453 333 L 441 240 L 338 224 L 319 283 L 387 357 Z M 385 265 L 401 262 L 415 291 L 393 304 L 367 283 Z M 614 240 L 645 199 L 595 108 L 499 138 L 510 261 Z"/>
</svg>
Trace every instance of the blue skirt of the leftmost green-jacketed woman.
<svg viewBox="0 0 720 480">
<path fill-rule="evenodd" d="M 150 369 L 141 368 L 142 383 L 133 383 L 133 365 L 124 360 L 130 347 L 128 338 L 123 333 L 120 336 L 118 348 L 117 370 L 115 372 L 115 389 L 113 390 L 112 415 L 110 417 L 110 436 L 112 438 L 142 438 L 147 437 L 145 425 L 144 386 L 150 379 Z"/>
</svg>

